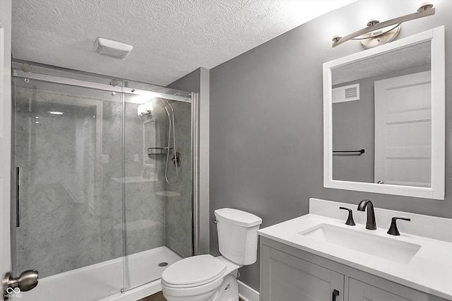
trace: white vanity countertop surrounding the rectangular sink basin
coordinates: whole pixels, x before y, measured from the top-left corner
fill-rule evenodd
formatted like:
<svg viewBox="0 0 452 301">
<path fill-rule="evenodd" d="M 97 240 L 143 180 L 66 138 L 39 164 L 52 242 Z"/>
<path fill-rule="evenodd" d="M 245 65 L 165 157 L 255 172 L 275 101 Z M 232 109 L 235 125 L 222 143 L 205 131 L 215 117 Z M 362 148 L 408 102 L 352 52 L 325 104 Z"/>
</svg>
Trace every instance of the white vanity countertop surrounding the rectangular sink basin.
<svg viewBox="0 0 452 301">
<path fill-rule="evenodd" d="M 332 206 L 337 211 L 340 211 L 338 209 L 339 206 L 345 204 L 331 203 L 333 203 Z M 356 206 L 352 204 L 345 205 L 348 205 L 349 208 Z M 322 203 L 322 206 L 324 206 L 324 203 Z M 376 216 L 378 213 L 376 211 Z M 388 211 L 388 213 L 390 214 L 391 211 Z M 400 212 L 398 211 L 393 211 L 393 213 L 393 216 L 400 216 Z M 389 281 L 408 286 L 409 288 L 452 300 L 452 242 L 408 234 L 400 230 L 400 227 L 400 236 L 388 235 L 386 232 L 391 220 L 388 220 L 387 225 L 379 226 L 377 219 L 377 226 L 379 228 L 376 230 L 367 230 L 365 225 L 360 223 L 357 223 L 355 226 L 348 226 L 345 225 L 347 212 L 342 214 L 345 215 L 345 219 L 338 220 L 310 213 L 306 216 L 300 216 L 299 218 L 263 228 L 258 231 L 258 234 L 271 240 L 290 245 L 291 247 L 322 256 L 326 259 L 337 261 L 340 264 L 345 264 L 352 268 L 357 268 L 361 271 L 385 278 Z M 406 215 L 410 214 L 407 213 Z M 444 220 L 447 220 L 448 223 L 450 222 L 448 219 Z M 357 219 L 355 219 L 355 222 L 357 222 Z M 402 223 L 404 221 L 400 221 L 400 225 Z M 336 244 L 319 243 L 319 240 L 313 237 L 299 234 L 299 232 L 314 228 L 319 224 L 329 224 L 359 232 L 371 232 L 372 235 L 419 244 L 421 248 L 408 263 L 402 264 L 380 258 L 379 256 L 357 252 L 347 247 L 340 247 Z M 417 227 L 417 225 L 413 225 L 413 227 Z M 451 228 L 448 228 L 448 230 L 450 231 Z"/>
</svg>

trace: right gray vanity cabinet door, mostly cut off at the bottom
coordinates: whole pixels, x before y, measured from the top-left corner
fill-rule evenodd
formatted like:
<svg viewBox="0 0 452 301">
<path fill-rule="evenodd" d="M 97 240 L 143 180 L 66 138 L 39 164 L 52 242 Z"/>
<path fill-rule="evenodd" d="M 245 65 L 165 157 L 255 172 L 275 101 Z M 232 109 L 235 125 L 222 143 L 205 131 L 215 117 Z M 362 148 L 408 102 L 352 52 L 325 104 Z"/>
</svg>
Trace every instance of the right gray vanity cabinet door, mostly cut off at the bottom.
<svg viewBox="0 0 452 301">
<path fill-rule="evenodd" d="M 403 291 L 405 290 L 405 291 Z M 400 285 L 400 295 L 406 297 L 406 290 L 409 290 L 406 287 Z M 412 292 L 410 292 L 412 295 Z M 357 281 L 353 278 L 350 278 L 348 284 L 348 301 L 408 301 L 408 300 L 431 300 L 427 295 L 423 293 L 416 294 L 414 297 L 410 297 L 410 299 L 406 299 L 405 297 L 400 297 L 398 292 L 389 293 L 386 290 L 382 290 L 381 288 L 376 288 L 367 283 L 362 283 L 361 281 Z"/>
</svg>

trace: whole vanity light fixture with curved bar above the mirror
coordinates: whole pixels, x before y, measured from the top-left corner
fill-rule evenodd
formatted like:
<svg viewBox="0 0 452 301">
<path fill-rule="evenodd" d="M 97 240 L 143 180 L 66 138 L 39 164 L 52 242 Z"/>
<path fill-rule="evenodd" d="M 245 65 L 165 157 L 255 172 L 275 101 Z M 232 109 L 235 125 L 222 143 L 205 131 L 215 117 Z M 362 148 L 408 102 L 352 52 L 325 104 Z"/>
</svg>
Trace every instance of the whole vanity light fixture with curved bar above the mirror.
<svg viewBox="0 0 452 301">
<path fill-rule="evenodd" d="M 378 20 L 371 20 L 367 23 L 367 28 L 350 33 L 345 37 L 333 37 L 333 47 L 336 47 L 348 40 L 361 40 L 364 48 L 376 47 L 394 40 L 400 32 L 400 25 L 403 22 L 424 18 L 435 14 L 433 4 L 423 4 L 417 9 L 416 13 L 410 13 L 405 16 L 379 22 Z"/>
</svg>

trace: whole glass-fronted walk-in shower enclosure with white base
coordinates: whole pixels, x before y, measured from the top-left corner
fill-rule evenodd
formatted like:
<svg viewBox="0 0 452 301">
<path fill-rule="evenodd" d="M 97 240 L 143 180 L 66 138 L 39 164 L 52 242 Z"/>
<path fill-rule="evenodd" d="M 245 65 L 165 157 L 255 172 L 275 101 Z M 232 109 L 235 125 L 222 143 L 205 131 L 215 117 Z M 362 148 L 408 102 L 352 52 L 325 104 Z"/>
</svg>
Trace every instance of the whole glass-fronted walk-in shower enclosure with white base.
<svg viewBox="0 0 452 301">
<path fill-rule="evenodd" d="M 11 245 L 13 276 L 40 281 L 21 300 L 155 282 L 194 254 L 196 93 L 30 65 L 13 62 Z"/>
</svg>

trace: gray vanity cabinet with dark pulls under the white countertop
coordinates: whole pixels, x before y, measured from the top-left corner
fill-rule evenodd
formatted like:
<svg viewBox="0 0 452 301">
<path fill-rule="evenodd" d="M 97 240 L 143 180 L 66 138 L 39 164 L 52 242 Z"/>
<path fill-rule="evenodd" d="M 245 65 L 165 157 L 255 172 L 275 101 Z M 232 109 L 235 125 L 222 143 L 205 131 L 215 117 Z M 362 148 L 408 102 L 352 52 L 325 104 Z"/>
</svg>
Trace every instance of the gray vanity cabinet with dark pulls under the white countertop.
<svg viewBox="0 0 452 301">
<path fill-rule="evenodd" d="M 261 301 L 444 301 L 261 236 Z"/>
</svg>

